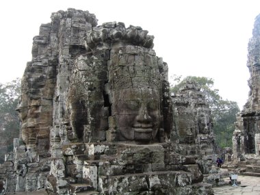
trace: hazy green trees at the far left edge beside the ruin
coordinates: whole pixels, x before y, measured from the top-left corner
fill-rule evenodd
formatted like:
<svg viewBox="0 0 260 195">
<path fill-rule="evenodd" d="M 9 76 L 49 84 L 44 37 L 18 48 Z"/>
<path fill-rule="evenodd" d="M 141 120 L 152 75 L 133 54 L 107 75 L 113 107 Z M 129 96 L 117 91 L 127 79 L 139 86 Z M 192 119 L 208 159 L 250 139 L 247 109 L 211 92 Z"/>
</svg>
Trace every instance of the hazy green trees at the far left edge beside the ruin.
<svg viewBox="0 0 260 195">
<path fill-rule="evenodd" d="M 0 83 L 0 162 L 5 153 L 12 151 L 13 140 L 19 135 L 19 118 L 16 107 L 20 94 L 21 79 Z"/>
</svg>

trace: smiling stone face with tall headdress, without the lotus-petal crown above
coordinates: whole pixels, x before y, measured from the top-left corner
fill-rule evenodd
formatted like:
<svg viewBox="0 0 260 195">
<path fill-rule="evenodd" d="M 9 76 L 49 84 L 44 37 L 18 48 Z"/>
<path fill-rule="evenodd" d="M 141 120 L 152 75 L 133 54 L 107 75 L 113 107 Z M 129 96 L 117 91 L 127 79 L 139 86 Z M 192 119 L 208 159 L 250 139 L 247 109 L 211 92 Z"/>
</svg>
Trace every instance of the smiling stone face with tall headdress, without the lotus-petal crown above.
<svg viewBox="0 0 260 195">
<path fill-rule="evenodd" d="M 123 58 L 110 66 L 109 84 L 112 116 L 116 121 L 116 140 L 155 142 L 161 125 L 161 76 L 155 55 L 148 49 L 126 46 L 112 53 Z M 127 51 L 127 53 L 123 53 Z M 140 55 L 134 53 L 144 51 Z M 129 54 L 130 53 L 130 54 Z M 132 54 L 133 53 L 133 54 Z M 114 57 L 116 58 L 116 57 Z M 147 60 L 148 59 L 148 60 Z M 151 62 L 151 63 L 148 63 Z"/>
</svg>

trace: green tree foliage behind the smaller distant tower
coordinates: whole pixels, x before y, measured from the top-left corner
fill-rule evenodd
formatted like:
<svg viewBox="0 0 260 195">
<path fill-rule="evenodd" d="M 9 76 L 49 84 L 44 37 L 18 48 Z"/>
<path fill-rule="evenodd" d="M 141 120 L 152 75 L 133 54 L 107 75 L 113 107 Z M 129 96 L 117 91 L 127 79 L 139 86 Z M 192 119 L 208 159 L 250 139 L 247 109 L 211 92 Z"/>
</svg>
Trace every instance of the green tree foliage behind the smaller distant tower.
<svg viewBox="0 0 260 195">
<path fill-rule="evenodd" d="M 172 77 L 171 92 L 177 93 L 179 88 L 184 86 L 185 81 L 194 81 L 201 88 L 205 99 L 211 108 L 213 117 L 213 131 L 216 135 L 216 142 L 221 147 L 232 146 L 232 135 L 235 130 L 234 122 L 239 107 L 235 101 L 223 100 L 219 90 L 213 88 L 214 81 L 208 77 L 181 76 L 174 75 Z"/>
</svg>

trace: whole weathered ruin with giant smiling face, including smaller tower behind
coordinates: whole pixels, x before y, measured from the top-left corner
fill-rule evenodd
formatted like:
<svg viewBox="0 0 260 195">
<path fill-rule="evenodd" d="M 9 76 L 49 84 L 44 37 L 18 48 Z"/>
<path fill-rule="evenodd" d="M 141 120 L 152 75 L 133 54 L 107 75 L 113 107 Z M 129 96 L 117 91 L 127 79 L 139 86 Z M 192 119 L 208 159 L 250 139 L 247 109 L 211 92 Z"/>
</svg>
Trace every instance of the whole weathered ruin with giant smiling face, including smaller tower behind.
<svg viewBox="0 0 260 195">
<path fill-rule="evenodd" d="M 209 106 L 189 81 L 171 97 L 148 31 L 68 9 L 31 52 L 1 194 L 213 194 Z"/>
</svg>

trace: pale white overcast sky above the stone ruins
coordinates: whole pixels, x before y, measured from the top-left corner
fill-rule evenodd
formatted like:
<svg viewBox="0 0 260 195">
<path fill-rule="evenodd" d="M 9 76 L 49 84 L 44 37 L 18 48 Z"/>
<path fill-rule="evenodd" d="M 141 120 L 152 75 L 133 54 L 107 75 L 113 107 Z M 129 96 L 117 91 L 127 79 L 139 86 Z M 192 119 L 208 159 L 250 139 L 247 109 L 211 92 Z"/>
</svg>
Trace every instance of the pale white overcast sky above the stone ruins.
<svg viewBox="0 0 260 195">
<path fill-rule="evenodd" d="M 247 44 L 259 0 L 6 0 L 0 6 L 0 83 L 23 76 L 32 39 L 52 12 L 76 8 L 95 14 L 99 25 L 117 21 L 148 30 L 169 77 L 211 77 L 224 99 L 240 108 L 248 99 Z"/>
</svg>

